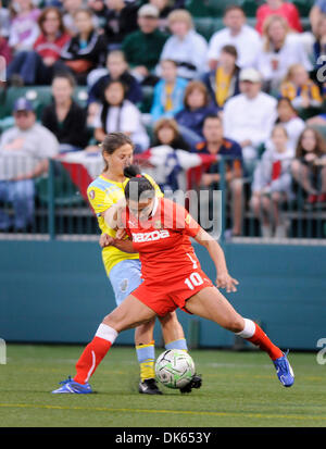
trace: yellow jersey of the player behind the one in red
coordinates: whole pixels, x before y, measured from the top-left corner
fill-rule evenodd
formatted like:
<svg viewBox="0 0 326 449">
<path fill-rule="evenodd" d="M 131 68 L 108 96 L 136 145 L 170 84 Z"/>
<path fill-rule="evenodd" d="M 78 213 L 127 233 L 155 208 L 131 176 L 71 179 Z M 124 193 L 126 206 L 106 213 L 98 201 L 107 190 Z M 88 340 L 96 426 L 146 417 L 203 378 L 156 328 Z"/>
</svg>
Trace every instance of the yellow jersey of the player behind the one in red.
<svg viewBox="0 0 326 449">
<path fill-rule="evenodd" d="M 143 174 L 143 176 L 146 176 L 154 187 L 156 197 L 163 197 L 163 194 L 154 179 L 147 174 Z M 128 180 L 129 179 L 127 178 L 123 183 L 117 183 L 100 175 L 87 188 L 87 197 L 97 215 L 98 224 L 102 234 L 108 234 L 111 237 L 115 237 L 116 230 L 106 225 L 102 213 L 125 196 L 125 186 Z M 102 249 L 102 260 L 105 266 L 106 275 L 109 275 L 114 265 L 127 259 L 139 259 L 139 254 L 130 254 L 112 246 Z"/>
</svg>

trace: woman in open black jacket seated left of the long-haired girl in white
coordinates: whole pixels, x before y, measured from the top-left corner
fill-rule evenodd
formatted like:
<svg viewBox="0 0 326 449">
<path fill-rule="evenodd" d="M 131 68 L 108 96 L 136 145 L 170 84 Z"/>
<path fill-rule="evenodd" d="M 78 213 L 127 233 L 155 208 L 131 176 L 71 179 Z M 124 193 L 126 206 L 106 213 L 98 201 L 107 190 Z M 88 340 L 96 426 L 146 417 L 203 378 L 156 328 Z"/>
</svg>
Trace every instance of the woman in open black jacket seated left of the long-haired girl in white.
<svg viewBox="0 0 326 449">
<path fill-rule="evenodd" d="M 53 101 L 42 111 L 42 125 L 59 140 L 60 152 L 83 150 L 88 144 L 86 111 L 73 100 L 74 88 L 72 75 L 57 75 L 52 80 Z"/>
</svg>

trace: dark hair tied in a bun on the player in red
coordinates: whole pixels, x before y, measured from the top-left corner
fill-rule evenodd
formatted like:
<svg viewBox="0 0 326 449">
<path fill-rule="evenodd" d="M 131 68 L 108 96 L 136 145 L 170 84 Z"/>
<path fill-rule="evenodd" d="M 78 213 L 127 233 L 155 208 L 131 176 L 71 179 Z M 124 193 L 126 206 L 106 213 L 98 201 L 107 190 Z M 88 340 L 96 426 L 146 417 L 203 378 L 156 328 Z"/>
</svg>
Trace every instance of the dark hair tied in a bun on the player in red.
<svg viewBox="0 0 326 449">
<path fill-rule="evenodd" d="M 140 174 L 139 166 L 128 165 L 124 170 L 124 175 L 129 178 L 125 187 L 126 200 L 139 201 L 141 198 L 153 198 L 155 189 L 146 176 Z"/>
</svg>

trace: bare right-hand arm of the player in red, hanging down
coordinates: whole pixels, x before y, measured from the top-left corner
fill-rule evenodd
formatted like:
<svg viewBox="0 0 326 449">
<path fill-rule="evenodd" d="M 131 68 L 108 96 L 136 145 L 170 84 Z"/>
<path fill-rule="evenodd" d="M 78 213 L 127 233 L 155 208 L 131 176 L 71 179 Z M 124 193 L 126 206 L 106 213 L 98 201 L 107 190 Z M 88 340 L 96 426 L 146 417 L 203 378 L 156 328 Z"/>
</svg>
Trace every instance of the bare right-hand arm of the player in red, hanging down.
<svg viewBox="0 0 326 449">
<path fill-rule="evenodd" d="M 233 278 L 227 270 L 226 260 L 224 251 L 213 237 L 210 236 L 202 227 L 199 229 L 197 235 L 193 237 L 195 240 L 206 248 L 209 251 L 214 265 L 216 267 L 216 286 L 218 288 L 226 288 L 227 292 L 237 291 L 237 285 L 239 284 L 237 279 Z"/>
</svg>

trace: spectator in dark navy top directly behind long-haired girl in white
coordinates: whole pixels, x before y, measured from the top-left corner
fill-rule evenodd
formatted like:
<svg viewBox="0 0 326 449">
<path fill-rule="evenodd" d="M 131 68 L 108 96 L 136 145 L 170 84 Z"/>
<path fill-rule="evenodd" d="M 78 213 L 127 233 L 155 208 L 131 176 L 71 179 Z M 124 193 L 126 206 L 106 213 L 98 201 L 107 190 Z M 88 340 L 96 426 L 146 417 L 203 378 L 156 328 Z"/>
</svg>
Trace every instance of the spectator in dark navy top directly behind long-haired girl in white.
<svg viewBox="0 0 326 449">
<path fill-rule="evenodd" d="M 121 80 L 125 85 L 127 100 L 133 103 L 139 103 L 142 100 L 141 86 L 135 76 L 129 73 L 124 53 L 121 50 L 112 50 L 106 57 L 106 74 L 90 86 L 88 104 L 100 103 L 103 100 L 103 87 L 111 79 Z"/>
</svg>

